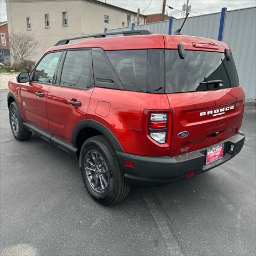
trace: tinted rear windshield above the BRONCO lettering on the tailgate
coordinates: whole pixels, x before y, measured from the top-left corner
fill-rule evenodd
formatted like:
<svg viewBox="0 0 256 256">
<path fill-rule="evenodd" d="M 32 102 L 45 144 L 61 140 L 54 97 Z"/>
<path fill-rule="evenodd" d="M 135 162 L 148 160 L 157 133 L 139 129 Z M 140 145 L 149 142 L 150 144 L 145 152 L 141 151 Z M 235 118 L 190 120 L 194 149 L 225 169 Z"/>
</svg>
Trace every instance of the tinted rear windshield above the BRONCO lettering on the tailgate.
<svg viewBox="0 0 256 256">
<path fill-rule="evenodd" d="M 234 59 L 227 61 L 224 53 L 185 51 L 180 59 L 177 50 L 165 51 L 165 92 L 190 92 L 216 90 L 239 85 Z M 217 84 L 200 84 L 205 81 L 222 80 Z"/>
</svg>

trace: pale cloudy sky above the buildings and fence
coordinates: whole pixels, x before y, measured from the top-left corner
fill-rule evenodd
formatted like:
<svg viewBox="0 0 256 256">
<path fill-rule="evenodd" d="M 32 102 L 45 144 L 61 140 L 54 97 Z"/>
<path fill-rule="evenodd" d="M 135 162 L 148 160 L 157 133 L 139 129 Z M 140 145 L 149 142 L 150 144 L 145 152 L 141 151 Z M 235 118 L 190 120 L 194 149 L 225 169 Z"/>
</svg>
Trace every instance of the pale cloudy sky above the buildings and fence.
<svg viewBox="0 0 256 256">
<path fill-rule="evenodd" d="M 54 1 L 54 0 L 53 0 Z M 105 0 L 100 0 L 105 2 Z M 162 0 L 106 0 L 108 4 L 113 4 L 124 9 L 137 12 L 140 8 L 140 12 L 143 14 L 160 13 L 162 12 Z M 187 0 L 166 0 L 166 4 L 174 7 L 177 10 L 182 10 L 182 5 Z M 0 21 L 7 20 L 5 1 L 0 0 Z M 189 0 L 191 4 L 191 15 L 201 15 L 213 12 L 220 12 L 222 7 L 227 7 L 228 10 L 242 9 L 245 7 L 251 7 L 256 5 L 256 0 Z M 146 9 L 146 10 L 145 10 Z M 174 18 L 181 18 L 183 15 L 180 11 L 171 10 L 166 7 L 169 15 Z"/>
</svg>

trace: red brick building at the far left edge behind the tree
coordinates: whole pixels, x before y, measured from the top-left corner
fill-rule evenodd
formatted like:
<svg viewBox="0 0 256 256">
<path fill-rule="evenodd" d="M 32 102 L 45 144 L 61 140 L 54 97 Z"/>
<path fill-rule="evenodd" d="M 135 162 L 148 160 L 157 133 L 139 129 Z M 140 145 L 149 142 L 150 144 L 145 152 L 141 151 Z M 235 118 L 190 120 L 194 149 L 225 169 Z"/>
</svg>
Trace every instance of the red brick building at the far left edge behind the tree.
<svg viewBox="0 0 256 256">
<path fill-rule="evenodd" d="M 0 62 L 11 63 L 7 21 L 0 22 Z"/>
</svg>

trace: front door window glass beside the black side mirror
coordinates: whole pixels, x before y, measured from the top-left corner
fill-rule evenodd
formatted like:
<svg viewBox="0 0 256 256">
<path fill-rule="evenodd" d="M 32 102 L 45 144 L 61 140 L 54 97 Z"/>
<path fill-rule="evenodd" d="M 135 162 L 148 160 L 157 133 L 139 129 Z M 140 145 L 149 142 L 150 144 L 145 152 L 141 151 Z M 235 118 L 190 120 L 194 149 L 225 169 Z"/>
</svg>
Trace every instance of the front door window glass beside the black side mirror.
<svg viewBox="0 0 256 256">
<path fill-rule="evenodd" d="M 33 81 L 51 84 L 55 78 L 60 55 L 61 52 L 51 52 L 45 55 L 34 71 Z"/>
</svg>

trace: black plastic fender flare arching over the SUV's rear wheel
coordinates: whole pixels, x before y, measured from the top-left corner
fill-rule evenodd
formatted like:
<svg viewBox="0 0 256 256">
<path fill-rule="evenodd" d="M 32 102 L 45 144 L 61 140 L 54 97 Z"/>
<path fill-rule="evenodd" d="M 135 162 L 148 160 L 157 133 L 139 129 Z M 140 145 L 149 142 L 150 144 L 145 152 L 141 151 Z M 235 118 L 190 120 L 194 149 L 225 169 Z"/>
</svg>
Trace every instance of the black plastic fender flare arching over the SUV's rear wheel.
<svg viewBox="0 0 256 256">
<path fill-rule="evenodd" d="M 114 147 L 116 151 L 124 151 L 119 141 L 117 140 L 115 135 L 108 129 L 108 127 L 93 119 L 84 119 L 76 124 L 71 137 L 71 142 L 74 147 L 77 147 L 76 138 L 78 133 L 82 131 L 82 129 L 84 128 L 94 128 L 100 131 L 110 141 L 111 145 Z"/>
</svg>

